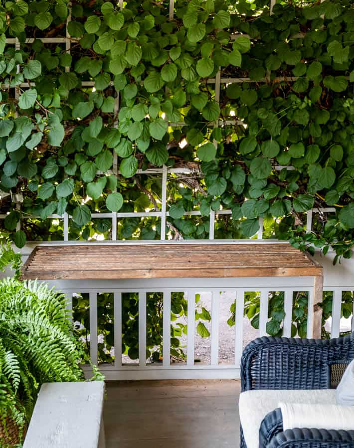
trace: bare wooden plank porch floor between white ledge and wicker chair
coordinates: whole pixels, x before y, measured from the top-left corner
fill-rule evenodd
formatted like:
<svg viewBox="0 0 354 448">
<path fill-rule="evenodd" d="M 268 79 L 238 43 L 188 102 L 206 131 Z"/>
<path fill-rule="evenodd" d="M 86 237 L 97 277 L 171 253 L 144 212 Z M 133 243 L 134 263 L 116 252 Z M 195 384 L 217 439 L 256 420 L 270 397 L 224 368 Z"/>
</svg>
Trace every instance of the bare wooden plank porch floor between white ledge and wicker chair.
<svg viewBox="0 0 354 448">
<path fill-rule="evenodd" d="M 236 448 L 239 393 L 239 380 L 107 382 L 106 448 Z"/>
</svg>

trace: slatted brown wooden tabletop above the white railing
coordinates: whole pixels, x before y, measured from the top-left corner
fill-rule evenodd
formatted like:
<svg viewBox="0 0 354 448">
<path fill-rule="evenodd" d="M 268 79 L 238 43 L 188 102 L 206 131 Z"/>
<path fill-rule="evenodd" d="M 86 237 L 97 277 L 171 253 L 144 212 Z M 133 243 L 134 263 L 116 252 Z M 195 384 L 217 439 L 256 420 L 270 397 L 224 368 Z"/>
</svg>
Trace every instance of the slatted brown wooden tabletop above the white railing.
<svg viewBox="0 0 354 448">
<path fill-rule="evenodd" d="M 22 279 L 322 276 L 322 267 L 290 244 L 84 244 L 37 246 Z"/>
</svg>

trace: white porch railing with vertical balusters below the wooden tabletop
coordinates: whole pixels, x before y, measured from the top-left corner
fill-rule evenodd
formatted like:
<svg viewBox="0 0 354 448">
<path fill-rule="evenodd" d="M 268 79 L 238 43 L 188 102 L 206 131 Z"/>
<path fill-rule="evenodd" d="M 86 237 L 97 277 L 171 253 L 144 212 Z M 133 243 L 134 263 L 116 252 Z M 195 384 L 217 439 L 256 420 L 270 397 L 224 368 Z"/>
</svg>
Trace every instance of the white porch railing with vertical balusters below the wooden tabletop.
<svg viewBox="0 0 354 448">
<path fill-rule="evenodd" d="M 72 294 L 77 293 L 89 293 L 89 319 L 90 319 L 90 351 L 91 360 L 97 364 L 98 361 L 98 331 L 97 331 L 97 295 L 99 293 L 113 293 L 114 296 L 114 347 L 115 347 L 115 360 L 111 365 L 101 364 L 101 370 L 106 375 L 108 380 L 131 380 L 131 379 L 187 379 L 187 378 L 239 378 L 240 376 L 240 360 L 242 350 L 244 347 L 244 295 L 246 292 L 257 291 L 260 292 L 260 314 L 259 314 L 259 336 L 266 335 L 266 324 L 268 319 L 268 303 L 269 293 L 277 291 L 284 292 L 284 312 L 285 317 L 283 320 L 283 336 L 291 336 L 292 327 L 292 311 L 293 311 L 293 297 L 296 292 L 305 292 L 308 294 L 308 309 L 313 309 L 313 291 L 311 285 L 304 285 L 304 279 L 294 278 L 294 281 L 290 279 L 273 279 L 276 284 L 266 282 L 263 287 L 260 287 L 261 279 L 247 279 L 253 280 L 250 282 L 251 287 L 236 287 L 230 286 L 235 279 L 210 279 L 219 280 L 224 283 L 222 288 L 211 287 L 208 285 L 208 279 L 180 279 L 180 284 L 185 284 L 185 289 L 178 289 L 176 287 L 166 287 L 166 279 L 159 279 L 160 283 L 163 283 L 160 287 L 157 285 L 150 286 L 151 280 L 135 282 L 135 287 L 132 288 L 114 288 L 112 282 L 104 287 L 94 287 L 94 281 L 88 281 L 92 283 L 87 285 L 86 288 L 82 288 L 83 285 L 77 284 L 72 289 L 64 289 L 62 286 L 65 283 L 60 281 L 60 289 L 65 292 L 68 298 L 72 297 Z M 163 280 L 163 282 L 161 282 Z M 170 279 L 167 279 L 170 280 Z M 172 279 L 171 279 L 172 280 Z M 196 282 L 195 282 L 196 280 Z M 192 287 L 194 284 L 200 284 L 200 281 L 206 283 L 204 287 Z M 243 279 L 244 280 L 244 279 Z M 280 280 L 280 281 L 279 281 Z M 291 286 L 284 286 L 289 281 L 292 282 Z M 57 283 L 57 282 L 53 282 Z M 157 283 L 157 282 L 154 282 Z M 99 284 L 96 281 L 96 284 Z M 217 284 L 217 283 L 216 283 Z M 227 285 L 225 285 L 227 284 Z M 215 285 L 215 283 L 214 283 Z M 58 285 L 59 286 L 59 285 Z M 86 285 L 85 285 L 86 286 Z M 352 288 L 332 288 L 325 289 L 326 291 L 333 292 L 333 312 L 332 312 L 332 328 L 331 336 L 338 337 L 340 333 L 340 320 L 341 320 L 341 303 L 342 293 L 344 291 L 354 291 Z M 170 339 L 171 339 L 171 295 L 172 293 L 184 292 L 184 297 L 188 302 L 187 313 L 187 344 L 186 344 L 186 362 L 185 363 L 171 363 L 170 361 Z M 234 330 L 234 362 L 232 364 L 226 364 L 219 361 L 219 309 L 222 293 L 228 293 L 236 300 L 235 308 L 235 326 Z M 138 293 L 139 294 L 139 363 L 138 364 L 124 364 L 122 362 L 122 294 L 123 293 Z M 147 363 L 146 360 L 146 348 L 147 348 L 147 294 L 149 293 L 162 293 L 163 294 L 163 361 L 160 363 Z M 211 293 L 211 331 L 210 331 L 210 353 L 209 363 L 201 364 L 194 362 L 195 351 L 195 295 L 198 293 Z M 313 313 L 308 313 L 307 316 L 307 336 L 311 337 Z M 353 327 L 354 329 L 354 327 Z M 255 330 L 256 331 L 256 330 Z"/>
</svg>

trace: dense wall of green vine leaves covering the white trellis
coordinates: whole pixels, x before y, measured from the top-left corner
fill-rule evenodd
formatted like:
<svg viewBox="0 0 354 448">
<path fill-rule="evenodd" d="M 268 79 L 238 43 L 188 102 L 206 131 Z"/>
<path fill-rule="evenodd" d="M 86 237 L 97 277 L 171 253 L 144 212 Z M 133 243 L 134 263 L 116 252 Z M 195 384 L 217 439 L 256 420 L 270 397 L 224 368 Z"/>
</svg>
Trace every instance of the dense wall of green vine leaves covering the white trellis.
<svg viewBox="0 0 354 448">
<path fill-rule="evenodd" d="M 353 4 L 280 1 L 270 15 L 268 3 L 180 0 L 169 20 L 164 2 L 74 1 L 69 49 L 40 40 L 65 37 L 66 0 L 2 2 L 0 187 L 24 195 L 20 210 L 2 204 L 16 244 L 60 238 L 43 220 L 64 211 L 70 238 L 109 236 L 92 212 L 158 209 L 160 179 L 136 171 L 167 164 L 193 171 L 169 179 L 172 237 L 207 238 L 210 207 L 231 208 L 215 237 L 251 237 L 263 217 L 265 237 L 350 257 Z M 219 67 L 230 82 L 217 102 Z M 336 212 L 316 214 L 306 235 L 313 206 Z M 201 216 L 183 217 L 193 209 Z M 15 232 L 28 215 L 41 219 Z M 126 219 L 118 237 L 158 238 L 159 225 Z"/>
</svg>

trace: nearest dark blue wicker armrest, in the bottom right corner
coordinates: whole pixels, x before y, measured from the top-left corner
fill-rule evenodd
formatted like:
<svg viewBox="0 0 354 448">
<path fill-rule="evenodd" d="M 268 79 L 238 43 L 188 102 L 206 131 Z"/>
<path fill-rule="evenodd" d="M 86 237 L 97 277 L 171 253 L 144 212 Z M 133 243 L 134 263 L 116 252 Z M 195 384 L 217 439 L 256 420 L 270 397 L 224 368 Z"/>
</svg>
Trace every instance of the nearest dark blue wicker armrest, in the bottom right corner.
<svg viewBox="0 0 354 448">
<path fill-rule="evenodd" d="M 295 428 L 277 434 L 267 448 L 354 448 L 354 431 Z"/>
</svg>

